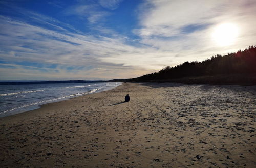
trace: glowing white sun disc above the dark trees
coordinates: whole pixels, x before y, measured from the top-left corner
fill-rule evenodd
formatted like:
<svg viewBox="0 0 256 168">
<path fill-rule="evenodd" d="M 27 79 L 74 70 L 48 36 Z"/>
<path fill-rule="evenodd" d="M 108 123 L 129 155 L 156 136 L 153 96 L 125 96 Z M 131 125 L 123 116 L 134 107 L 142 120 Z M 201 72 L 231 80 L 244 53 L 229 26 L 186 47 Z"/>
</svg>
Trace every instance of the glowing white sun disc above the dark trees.
<svg viewBox="0 0 256 168">
<path fill-rule="evenodd" d="M 212 38 L 220 46 L 229 46 L 236 42 L 238 26 L 232 23 L 218 25 L 212 33 Z"/>
</svg>

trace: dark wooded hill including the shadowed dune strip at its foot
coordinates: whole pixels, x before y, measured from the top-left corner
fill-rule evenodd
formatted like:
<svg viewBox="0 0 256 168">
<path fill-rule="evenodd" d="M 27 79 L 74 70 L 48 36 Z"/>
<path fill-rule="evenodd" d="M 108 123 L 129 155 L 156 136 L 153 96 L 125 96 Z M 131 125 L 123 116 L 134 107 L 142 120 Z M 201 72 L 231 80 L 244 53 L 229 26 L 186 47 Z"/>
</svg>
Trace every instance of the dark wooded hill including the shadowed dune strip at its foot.
<svg viewBox="0 0 256 168">
<path fill-rule="evenodd" d="M 202 62 L 167 66 L 126 81 L 256 85 L 256 46 L 224 56 L 217 54 Z"/>
</svg>

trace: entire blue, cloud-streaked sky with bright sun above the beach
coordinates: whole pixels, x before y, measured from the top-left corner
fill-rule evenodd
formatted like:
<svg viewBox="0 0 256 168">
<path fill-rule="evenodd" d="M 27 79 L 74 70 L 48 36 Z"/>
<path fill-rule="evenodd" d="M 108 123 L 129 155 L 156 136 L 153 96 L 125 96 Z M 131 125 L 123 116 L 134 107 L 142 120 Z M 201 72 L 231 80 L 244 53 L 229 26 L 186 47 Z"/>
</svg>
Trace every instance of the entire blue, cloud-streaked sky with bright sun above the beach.
<svg viewBox="0 0 256 168">
<path fill-rule="evenodd" d="M 255 0 L 1 0 L 0 80 L 134 78 L 256 45 Z"/>
</svg>

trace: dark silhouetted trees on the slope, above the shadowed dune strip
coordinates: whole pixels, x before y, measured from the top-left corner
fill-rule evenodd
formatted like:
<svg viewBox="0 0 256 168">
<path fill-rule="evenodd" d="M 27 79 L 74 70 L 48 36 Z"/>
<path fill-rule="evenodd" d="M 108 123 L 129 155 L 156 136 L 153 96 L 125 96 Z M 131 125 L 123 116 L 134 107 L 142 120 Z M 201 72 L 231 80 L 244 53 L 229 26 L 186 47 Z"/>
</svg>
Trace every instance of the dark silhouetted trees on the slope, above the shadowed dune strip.
<svg viewBox="0 0 256 168">
<path fill-rule="evenodd" d="M 143 75 L 127 81 L 156 81 L 184 77 L 256 74 L 256 46 L 249 46 L 245 50 L 217 54 L 202 62 L 184 62 L 175 67 L 167 66 L 159 72 Z"/>
</svg>

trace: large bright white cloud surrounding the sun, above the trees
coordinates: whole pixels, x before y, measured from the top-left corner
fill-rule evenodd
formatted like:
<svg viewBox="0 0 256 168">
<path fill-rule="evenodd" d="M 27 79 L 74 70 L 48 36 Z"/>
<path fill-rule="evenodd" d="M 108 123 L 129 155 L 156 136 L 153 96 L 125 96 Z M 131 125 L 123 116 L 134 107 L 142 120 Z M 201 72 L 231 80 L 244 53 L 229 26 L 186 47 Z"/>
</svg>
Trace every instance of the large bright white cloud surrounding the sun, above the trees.
<svg viewBox="0 0 256 168">
<path fill-rule="evenodd" d="M 141 38 L 140 42 L 168 51 L 170 57 L 186 57 L 187 61 L 236 51 L 253 45 L 256 38 L 252 28 L 256 24 L 255 1 L 148 0 L 139 11 L 140 27 L 133 32 Z M 220 47 L 211 34 L 219 24 L 229 22 L 240 28 L 240 36 L 233 45 Z"/>
</svg>

